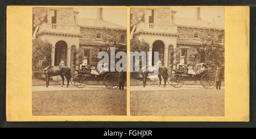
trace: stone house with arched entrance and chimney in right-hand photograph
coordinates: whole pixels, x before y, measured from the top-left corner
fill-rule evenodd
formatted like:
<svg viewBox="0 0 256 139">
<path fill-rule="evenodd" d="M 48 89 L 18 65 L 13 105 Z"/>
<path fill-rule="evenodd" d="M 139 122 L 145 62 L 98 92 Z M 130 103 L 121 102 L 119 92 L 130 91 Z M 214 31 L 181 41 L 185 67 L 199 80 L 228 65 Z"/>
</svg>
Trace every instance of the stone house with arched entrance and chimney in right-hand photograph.
<svg viewBox="0 0 256 139">
<path fill-rule="evenodd" d="M 150 45 L 149 51 L 159 52 L 159 60 L 168 68 L 176 69 L 180 57 L 185 64 L 205 62 L 201 38 L 213 32 L 217 45 L 224 47 L 224 27 L 201 20 L 200 8 L 195 8 L 194 18 L 178 18 L 177 11 L 166 8 L 131 8 L 131 32 Z"/>
</svg>

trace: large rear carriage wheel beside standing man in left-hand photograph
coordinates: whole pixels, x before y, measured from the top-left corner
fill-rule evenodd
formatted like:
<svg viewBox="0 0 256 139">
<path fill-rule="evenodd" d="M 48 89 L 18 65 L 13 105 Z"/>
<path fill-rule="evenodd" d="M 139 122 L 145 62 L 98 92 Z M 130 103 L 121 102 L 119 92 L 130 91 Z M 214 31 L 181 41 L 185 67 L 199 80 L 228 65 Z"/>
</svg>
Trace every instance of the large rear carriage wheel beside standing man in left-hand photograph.
<svg viewBox="0 0 256 139">
<path fill-rule="evenodd" d="M 118 87 L 118 75 L 115 73 L 107 74 L 103 79 L 103 84 L 107 89 L 117 89 Z"/>
</svg>

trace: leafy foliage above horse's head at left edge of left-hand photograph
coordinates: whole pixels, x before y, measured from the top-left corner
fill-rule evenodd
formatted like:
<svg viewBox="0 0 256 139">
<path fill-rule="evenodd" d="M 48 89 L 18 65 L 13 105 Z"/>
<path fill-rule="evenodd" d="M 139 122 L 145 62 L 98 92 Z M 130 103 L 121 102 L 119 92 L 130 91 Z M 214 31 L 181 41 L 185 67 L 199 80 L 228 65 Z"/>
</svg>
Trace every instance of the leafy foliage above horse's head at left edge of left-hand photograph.
<svg viewBox="0 0 256 139">
<path fill-rule="evenodd" d="M 32 42 L 32 70 L 42 70 L 51 65 L 51 48 L 52 45 L 47 41 L 35 39 Z"/>
</svg>

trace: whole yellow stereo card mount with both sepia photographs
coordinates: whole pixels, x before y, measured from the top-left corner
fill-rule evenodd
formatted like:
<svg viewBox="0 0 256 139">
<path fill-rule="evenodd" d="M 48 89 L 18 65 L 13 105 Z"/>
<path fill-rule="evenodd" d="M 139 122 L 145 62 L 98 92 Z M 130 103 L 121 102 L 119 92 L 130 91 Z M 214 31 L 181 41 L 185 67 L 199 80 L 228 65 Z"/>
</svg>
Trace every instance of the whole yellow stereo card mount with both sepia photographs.
<svg viewBox="0 0 256 139">
<path fill-rule="evenodd" d="M 248 6 L 7 6 L 6 121 L 250 121 L 249 30 Z"/>
</svg>

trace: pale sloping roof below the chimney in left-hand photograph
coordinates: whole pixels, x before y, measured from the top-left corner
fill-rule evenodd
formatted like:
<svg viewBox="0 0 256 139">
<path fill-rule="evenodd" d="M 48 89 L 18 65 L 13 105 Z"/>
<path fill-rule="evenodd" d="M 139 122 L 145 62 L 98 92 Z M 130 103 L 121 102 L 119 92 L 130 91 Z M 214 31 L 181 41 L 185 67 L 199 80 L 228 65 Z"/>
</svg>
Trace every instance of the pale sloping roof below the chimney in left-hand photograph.
<svg viewBox="0 0 256 139">
<path fill-rule="evenodd" d="M 89 18 L 78 18 L 77 24 L 79 26 L 86 26 L 86 27 L 99 27 L 99 28 L 113 28 L 119 30 L 126 30 L 126 27 L 120 26 L 115 23 L 107 22 L 104 20 L 97 20 L 97 19 L 89 19 Z"/>
</svg>

